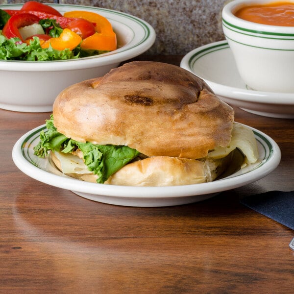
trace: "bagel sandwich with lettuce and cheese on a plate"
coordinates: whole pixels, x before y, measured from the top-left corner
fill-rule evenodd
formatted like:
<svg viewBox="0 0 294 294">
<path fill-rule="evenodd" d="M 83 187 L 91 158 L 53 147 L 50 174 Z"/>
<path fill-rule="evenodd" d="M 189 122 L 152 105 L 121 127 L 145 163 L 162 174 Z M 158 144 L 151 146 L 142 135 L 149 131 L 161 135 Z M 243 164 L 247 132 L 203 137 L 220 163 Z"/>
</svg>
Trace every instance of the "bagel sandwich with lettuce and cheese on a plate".
<svg viewBox="0 0 294 294">
<path fill-rule="evenodd" d="M 34 153 L 99 184 L 211 182 L 258 159 L 234 110 L 201 78 L 161 62 L 129 62 L 69 86 L 46 127 Z"/>
</svg>

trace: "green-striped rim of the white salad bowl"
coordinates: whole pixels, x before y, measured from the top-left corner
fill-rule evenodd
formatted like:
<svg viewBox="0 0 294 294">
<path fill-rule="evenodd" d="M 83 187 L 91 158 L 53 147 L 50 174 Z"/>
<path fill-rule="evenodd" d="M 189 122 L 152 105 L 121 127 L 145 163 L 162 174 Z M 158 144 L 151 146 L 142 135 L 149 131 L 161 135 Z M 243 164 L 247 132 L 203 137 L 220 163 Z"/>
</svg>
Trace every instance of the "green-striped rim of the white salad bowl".
<svg viewBox="0 0 294 294">
<path fill-rule="evenodd" d="M 1 4 L 0 9 L 16 9 L 20 8 L 22 3 Z M 155 42 L 156 33 L 154 28 L 136 16 L 124 13 L 117 10 L 76 4 L 59 4 L 49 3 L 55 9 L 71 9 L 71 10 L 91 10 L 98 11 L 101 14 L 110 13 L 114 17 L 120 16 L 133 25 L 140 25 L 144 30 L 145 35 L 137 43 L 132 44 L 131 41 L 116 50 L 103 53 L 100 55 L 82 57 L 78 59 L 68 60 L 54 60 L 54 61 L 21 61 L 21 60 L 0 60 L 0 71 L 17 71 L 17 72 L 43 72 L 43 71 L 66 71 L 66 70 L 79 70 L 85 68 L 94 68 L 99 66 L 106 66 L 110 64 L 120 63 L 130 58 L 134 58 L 143 52 L 147 51 Z M 114 19 L 115 20 L 115 19 Z M 135 35 L 135 31 L 134 31 Z M 134 43 L 134 42 L 133 42 Z M 56 67 L 58 64 L 58 68 Z"/>
</svg>

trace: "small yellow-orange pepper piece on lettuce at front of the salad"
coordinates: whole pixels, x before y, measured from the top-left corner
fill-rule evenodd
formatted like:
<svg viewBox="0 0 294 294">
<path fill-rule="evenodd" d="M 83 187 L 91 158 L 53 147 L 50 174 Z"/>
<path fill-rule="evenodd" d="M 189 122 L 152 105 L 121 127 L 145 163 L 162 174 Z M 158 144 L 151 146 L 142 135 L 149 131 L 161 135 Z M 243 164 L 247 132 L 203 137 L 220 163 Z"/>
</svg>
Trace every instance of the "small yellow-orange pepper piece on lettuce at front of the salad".
<svg viewBox="0 0 294 294">
<path fill-rule="evenodd" d="M 59 37 L 51 38 L 44 43 L 41 44 L 42 48 L 51 47 L 55 50 L 64 50 L 70 49 L 73 50 L 76 46 L 78 46 L 82 42 L 82 38 L 70 30 L 69 28 L 65 28 Z"/>
</svg>

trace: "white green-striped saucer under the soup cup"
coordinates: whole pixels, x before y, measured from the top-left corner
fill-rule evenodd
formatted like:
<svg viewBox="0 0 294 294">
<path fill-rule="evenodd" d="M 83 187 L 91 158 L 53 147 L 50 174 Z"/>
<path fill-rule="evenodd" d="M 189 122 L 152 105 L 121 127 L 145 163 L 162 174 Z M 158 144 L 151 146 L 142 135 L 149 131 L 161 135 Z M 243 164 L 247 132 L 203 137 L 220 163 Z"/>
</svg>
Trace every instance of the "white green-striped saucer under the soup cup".
<svg viewBox="0 0 294 294">
<path fill-rule="evenodd" d="M 248 89 L 226 41 L 190 51 L 183 57 L 180 66 L 204 79 L 216 95 L 231 105 L 262 116 L 294 119 L 294 93 Z"/>
</svg>

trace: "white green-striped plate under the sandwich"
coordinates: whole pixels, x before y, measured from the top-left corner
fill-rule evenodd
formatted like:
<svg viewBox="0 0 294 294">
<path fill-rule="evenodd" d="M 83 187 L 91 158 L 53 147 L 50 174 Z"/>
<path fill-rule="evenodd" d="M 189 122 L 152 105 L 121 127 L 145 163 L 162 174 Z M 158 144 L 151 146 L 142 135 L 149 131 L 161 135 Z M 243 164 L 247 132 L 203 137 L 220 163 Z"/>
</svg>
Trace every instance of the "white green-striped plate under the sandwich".
<svg viewBox="0 0 294 294">
<path fill-rule="evenodd" d="M 12 150 L 12 158 L 16 166 L 40 182 L 71 190 L 79 196 L 94 201 L 116 205 L 158 207 L 201 201 L 221 191 L 241 187 L 265 177 L 278 166 L 281 159 L 281 152 L 277 144 L 266 134 L 252 129 L 258 143 L 258 162 L 224 179 L 211 183 L 172 187 L 96 184 L 64 175 L 49 157 L 39 158 L 34 155 L 33 147 L 38 144 L 40 132 L 44 129 L 46 129 L 45 124 L 27 132 L 16 142 Z"/>
</svg>

